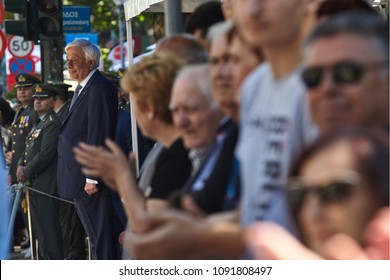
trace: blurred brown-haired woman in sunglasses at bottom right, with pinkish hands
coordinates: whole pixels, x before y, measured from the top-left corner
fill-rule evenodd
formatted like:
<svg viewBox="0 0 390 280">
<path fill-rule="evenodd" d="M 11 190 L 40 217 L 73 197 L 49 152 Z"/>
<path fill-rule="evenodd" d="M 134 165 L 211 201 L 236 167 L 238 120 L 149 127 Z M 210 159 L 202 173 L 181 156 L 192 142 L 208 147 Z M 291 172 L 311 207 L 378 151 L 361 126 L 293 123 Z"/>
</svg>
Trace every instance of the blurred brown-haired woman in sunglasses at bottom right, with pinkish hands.
<svg viewBox="0 0 390 280">
<path fill-rule="evenodd" d="M 247 232 L 255 257 L 388 259 L 389 149 L 388 136 L 382 133 L 348 130 L 305 150 L 287 189 L 291 214 L 307 248 L 276 225 L 258 224 Z M 381 209 L 379 224 L 373 224 Z"/>
</svg>

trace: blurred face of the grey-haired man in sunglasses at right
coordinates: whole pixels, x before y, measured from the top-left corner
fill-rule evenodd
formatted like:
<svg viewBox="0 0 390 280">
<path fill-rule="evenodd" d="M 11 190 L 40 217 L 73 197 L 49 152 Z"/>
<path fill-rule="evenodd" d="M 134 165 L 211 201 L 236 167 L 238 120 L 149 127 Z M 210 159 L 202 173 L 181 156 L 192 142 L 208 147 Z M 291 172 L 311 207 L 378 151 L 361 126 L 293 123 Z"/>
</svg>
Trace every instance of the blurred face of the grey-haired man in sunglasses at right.
<svg viewBox="0 0 390 280">
<path fill-rule="evenodd" d="M 324 69 L 318 85 L 308 88 L 311 114 L 322 133 L 388 122 L 388 66 L 381 54 L 369 39 L 345 34 L 319 39 L 306 49 L 307 68 Z M 360 78 L 338 82 L 337 74 L 350 80 L 356 74 L 355 66 L 343 69 L 346 63 L 361 69 Z"/>
</svg>

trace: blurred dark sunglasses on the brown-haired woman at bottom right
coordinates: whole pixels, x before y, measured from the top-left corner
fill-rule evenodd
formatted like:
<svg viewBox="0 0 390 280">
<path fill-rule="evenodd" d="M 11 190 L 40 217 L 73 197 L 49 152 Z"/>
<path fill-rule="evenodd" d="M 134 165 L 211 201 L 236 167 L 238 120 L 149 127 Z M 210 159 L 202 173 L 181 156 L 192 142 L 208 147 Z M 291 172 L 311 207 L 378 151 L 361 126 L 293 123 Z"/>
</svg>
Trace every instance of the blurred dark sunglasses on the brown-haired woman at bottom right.
<svg viewBox="0 0 390 280">
<path fill-rule="evenodd" d="M 341 203 L 351 196 L 359 182 L 360 176 L 355 171 L 348 172 L 343 179 L 311 187 L 305 185 L 300 178 L 291 178 L 287 185 L 287 199 L 293 212 L 297 214 L 308 194 L 315 194 L 322 204 Z"/>
</svg>

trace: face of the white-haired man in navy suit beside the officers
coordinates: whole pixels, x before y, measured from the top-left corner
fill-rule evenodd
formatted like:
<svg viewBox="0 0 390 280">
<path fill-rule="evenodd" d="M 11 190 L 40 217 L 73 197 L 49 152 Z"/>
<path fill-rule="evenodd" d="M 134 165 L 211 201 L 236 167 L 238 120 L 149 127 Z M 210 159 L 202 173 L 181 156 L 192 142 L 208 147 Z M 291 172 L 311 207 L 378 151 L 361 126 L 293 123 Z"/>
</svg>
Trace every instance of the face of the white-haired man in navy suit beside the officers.
<svg viewBox="0 0 390 280">
<path fill-rule="evenodd" d="M 66 67 L 71 79 L 80 83 L 93 70 L 93 61 L 87 61 L 81 47 L 72 47 L 66 53 Z"/>
</svg>

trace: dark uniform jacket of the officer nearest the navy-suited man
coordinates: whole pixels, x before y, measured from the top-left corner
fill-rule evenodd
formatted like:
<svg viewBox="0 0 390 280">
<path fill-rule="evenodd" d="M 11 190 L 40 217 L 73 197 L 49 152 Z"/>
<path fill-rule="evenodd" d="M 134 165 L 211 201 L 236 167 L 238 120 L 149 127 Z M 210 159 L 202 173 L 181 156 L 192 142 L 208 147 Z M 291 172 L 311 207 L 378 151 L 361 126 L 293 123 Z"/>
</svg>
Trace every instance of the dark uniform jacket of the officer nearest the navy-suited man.
<svg viewBox="0 0 390 280">
<path fill-rule="evenodd" d="M 56 194 L 57 144 L 61 121 L 51 110 L 32 128 L 26 139 L 26 149 L 19 160 L 31 187 Z M 31 192 L 31 195 L 35 195 Z"/>
</svg>

